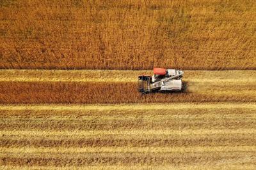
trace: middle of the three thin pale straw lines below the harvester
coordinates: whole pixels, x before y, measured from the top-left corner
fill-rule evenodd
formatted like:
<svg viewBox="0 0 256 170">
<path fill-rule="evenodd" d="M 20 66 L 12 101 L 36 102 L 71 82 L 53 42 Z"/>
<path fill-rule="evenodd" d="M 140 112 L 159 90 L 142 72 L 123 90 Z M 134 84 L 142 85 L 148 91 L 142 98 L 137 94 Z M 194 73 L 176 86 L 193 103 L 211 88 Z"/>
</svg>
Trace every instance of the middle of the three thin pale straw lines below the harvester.
<svg viewBox="0 0 256 170">
<path fill-rule="evenodd" d="M 171 134 L 255 134 L 256 129 L 195 129 L 195 130 L 109 130 L 109 131 L 0 131 L 0 135 L 36 135 L 40 134 L 42 136 L 47 135 L 67 135 L 67 136 L 74 136 L 74 135 L 109 135 L 109 134 L 123 134 L 123 135 L 150 135 L 150 134 L 164 134 L 164 135 L 171 135 Z"/>
</svg>

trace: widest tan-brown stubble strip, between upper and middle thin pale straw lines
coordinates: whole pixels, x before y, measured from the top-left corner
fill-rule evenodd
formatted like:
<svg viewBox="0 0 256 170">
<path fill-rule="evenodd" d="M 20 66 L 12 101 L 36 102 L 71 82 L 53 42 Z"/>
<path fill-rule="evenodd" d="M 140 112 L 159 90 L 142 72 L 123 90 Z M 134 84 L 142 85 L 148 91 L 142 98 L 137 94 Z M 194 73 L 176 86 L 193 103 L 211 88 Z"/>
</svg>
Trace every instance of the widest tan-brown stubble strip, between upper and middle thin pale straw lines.
<svg viewBox="0 0 256 170">
<path fill-rule="evenodd" d="M 131 110 L 132 111 L 132 110 Z M 136 111 L 136 110 L 134 110 Z M 126 130 L 126 129 L 140 129 L 140 130 L 160 130 L 160 129 L 237 129 L 243 127 L 244 129 L 254 128 L 256 124 L 256 117 L 253 113 L 248 114 L 244 111 L 244 115 L 237 114 L 198 114 L 198 115 L 157 115 L 161 110 L 154 110 L 151 115 L 147 113 L 143 116 L 134 115 L 108 115 L 100 114 L 90 117 L 56 117 L 54 111 L 49 111 L 52 115 L 42 118 L 17 118 L 8 117 L 1 118 L 1 130 L 17 130 L 26 131 L 33 129 L 33 131 L 99 131 L 99 130 Z M 193 111 L 193 110 L 191 110 Z M 211 124 L 209 124 L 211 122 Z"/>
</svg>

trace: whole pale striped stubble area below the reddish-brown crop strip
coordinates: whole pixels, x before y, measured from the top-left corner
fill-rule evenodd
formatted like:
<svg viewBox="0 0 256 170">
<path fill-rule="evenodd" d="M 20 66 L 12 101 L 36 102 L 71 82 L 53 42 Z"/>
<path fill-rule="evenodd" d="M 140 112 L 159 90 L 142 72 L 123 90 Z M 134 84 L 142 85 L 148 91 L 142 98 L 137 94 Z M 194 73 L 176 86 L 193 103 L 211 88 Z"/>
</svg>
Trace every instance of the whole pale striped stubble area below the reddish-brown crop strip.
<svg viewBox="0 0 256 170">
<path fill-rule="evenodd" d="M 253 169 L 256 103 L 0 105 L 1 169 Z"/>
</svg>

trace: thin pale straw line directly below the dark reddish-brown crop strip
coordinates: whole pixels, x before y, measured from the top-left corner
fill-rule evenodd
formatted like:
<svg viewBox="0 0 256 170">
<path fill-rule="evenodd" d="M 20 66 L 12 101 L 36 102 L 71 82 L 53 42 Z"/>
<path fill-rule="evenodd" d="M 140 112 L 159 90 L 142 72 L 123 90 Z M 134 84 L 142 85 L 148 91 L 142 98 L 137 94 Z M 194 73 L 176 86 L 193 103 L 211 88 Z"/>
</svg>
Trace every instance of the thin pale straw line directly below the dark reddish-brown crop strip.
<svg viewBox="0 0 256 170">
<path fill-rule="evenodd" d="M 0 110 L 180 110 L 185 108 L 256 108 L 256 103 L 171 103 L 171 104 L 0 104 Z"/>
</svg>

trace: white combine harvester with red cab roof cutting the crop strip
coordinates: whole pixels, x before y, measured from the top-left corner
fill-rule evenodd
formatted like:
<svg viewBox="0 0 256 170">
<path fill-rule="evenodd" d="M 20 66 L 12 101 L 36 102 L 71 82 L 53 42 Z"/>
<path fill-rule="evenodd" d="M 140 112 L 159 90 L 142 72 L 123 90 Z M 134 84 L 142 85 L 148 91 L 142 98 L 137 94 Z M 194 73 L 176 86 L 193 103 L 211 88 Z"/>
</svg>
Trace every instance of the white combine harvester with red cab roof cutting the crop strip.
<svg viewBox="0 0 256 170">
<path fill-rule="evenodd" d="M 154 68 L 153 76 L 142 75 L 138 77 L 138 90 L 143 94 L 180 91 L 183 74 L 183 71 L 177 69 Z"/>
</svg>

